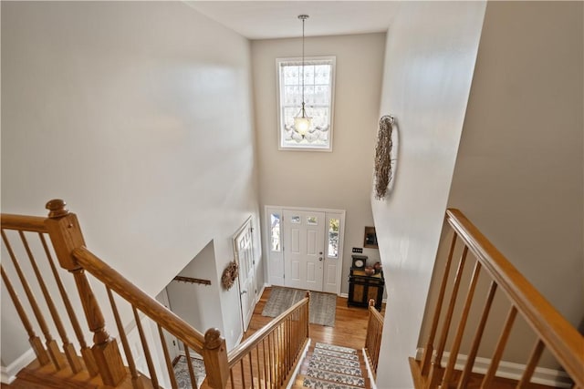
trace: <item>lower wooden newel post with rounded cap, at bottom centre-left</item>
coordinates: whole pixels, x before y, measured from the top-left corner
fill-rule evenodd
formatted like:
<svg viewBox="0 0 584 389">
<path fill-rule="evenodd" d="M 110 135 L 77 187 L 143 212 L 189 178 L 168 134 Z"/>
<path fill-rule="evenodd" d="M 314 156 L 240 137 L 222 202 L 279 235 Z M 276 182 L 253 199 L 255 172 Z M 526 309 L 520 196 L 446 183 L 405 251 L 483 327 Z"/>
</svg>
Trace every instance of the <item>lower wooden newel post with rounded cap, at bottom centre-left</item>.
<svg viewBox="0 0 584 389">
<path fill-rule="evenodd" d="M 210 328 L 204 333 L 203 362 L 209 386 L 223 389 L 229 377 L 229 361 L 225 338 L 216 328 Z"/>
</svg>

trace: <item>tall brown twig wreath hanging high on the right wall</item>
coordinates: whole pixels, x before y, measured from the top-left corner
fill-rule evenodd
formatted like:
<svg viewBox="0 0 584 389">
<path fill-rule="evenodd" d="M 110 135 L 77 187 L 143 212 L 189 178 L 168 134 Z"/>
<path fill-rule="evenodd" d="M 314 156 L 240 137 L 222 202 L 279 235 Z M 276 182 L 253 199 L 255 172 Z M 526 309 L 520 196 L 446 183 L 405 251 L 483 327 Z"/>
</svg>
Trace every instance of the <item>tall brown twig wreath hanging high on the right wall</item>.
<svg viewBox="0 0 584 389">
<path fill-rule="evenodd" d="M 393 123 L 395 119 L 386 115 L 380 119 L 380 130 L 375 146 L 375 199 L 382 200 L 387 194 L 393 171 L 391 169 L 391 149 L 393 148 Z"/>
</svg>

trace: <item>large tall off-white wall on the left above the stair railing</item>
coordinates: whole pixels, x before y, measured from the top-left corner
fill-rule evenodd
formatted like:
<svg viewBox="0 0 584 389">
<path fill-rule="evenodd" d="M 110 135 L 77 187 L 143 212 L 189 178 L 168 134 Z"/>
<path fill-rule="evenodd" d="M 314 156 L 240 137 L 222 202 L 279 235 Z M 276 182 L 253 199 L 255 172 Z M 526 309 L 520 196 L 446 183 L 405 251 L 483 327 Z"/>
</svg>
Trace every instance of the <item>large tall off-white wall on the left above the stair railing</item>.
<svg viewBox="0 0 584 389">
<path fill-rule="evenodd" d="M 259 220 L 250 62 L 181 2 L 3 2 L 2 211 L 67 200 L 90 250 L 151 295 L 214 241 L 219 282 Z M 232 347 L 239 296 L 220 300 Z M 26 348 L 5 346 L 10 320 L 5 363 Z"/>
</svg>

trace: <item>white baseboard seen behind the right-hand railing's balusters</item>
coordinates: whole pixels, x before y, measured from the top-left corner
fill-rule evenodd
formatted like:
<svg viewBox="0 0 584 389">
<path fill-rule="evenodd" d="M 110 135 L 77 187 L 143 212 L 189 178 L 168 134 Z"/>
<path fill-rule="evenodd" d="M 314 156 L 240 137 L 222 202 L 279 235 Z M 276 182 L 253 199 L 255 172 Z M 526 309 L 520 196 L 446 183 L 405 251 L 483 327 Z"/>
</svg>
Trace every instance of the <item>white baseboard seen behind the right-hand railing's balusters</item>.
<svg viewBox="0 0 584 389">
<path fill-rule="evenodd" d="M 422 354 L 423 348 L 416 350 L 416 360 L 421 361 Z M 443 366 L 448 362 L 449 356 L 450 353 L 443 353 Z M 454 363 L 454 368 L 456 370 L 463 370 L 467 359 L 467 355 L 458 354 L 456 363 Z M 490 364 L 491 360 L 489 358 L 476 357 L 474 359 L 473 373 L 485 374 Z M 521 379 L 521 376 L 525 370 L 525 364 L 501 361 L 495 375 L 497 377 L 509 378 L 518 381 Z M 536 371 L 531 377 L 531 382 L 534 384 L 544 384 L 557 388 L 571 387 L 571 380 L 569 379 L 568 374 L 560 370 L 548 369 L 546 367 L 536 367 Z"/>
</svg>

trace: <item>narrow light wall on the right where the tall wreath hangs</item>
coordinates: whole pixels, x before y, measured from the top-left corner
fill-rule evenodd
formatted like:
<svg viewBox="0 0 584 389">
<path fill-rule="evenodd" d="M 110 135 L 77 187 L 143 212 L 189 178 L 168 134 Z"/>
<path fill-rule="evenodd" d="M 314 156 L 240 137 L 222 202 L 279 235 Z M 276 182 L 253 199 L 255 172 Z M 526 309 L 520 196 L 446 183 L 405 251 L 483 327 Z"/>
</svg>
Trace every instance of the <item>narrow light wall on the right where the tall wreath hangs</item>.
<svg viewBox="0 0 584 389">
<path fill-rule="evenodd" d="M 411 388 L 415 354 L 473 77 L 484 2 L 404 3 L 387 36 L 380 115 L 399 126 L 393 190 L 372 200 L 388 289 L 380 388 Z"/>
</svg>

